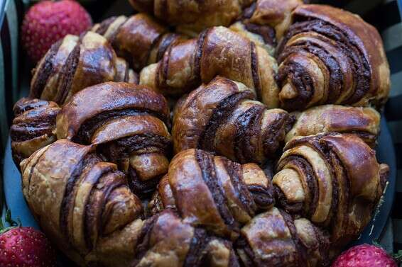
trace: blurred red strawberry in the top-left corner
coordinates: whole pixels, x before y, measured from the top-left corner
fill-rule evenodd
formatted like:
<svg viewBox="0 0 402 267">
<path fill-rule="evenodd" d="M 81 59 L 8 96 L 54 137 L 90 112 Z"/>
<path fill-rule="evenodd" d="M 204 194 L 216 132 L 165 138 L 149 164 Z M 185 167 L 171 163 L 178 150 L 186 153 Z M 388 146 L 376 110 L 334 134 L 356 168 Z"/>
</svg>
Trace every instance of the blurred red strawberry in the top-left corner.
<svg viewBox="0 0 402 267">
<path fill-rule="evenodd" d="M 76 1 L 40 1 L 23 19 L 22 42 L 28 56 L 37 62 L 53 43 L 67 34 L 80 35 L 91 25 L 91 17 Z"/>
</svg>

